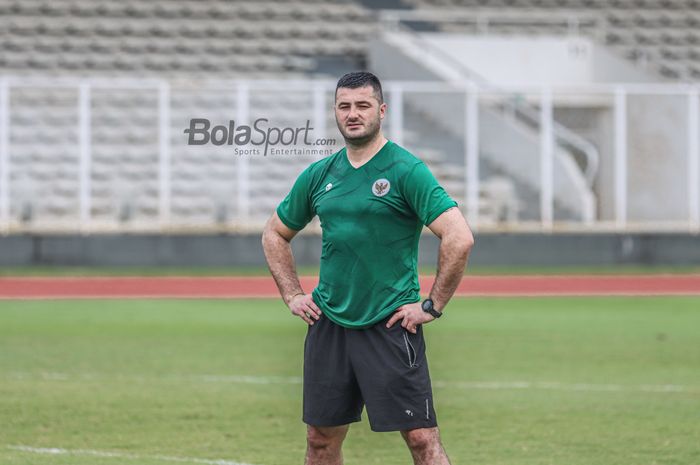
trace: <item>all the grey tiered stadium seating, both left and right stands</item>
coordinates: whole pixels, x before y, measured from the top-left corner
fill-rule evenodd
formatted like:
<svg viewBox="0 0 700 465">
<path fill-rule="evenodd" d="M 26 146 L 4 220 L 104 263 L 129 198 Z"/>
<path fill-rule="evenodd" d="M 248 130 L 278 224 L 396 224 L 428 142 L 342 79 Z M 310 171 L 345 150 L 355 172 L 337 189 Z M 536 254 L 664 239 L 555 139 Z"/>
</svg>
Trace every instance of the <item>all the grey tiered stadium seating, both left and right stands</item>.
<svg viewBox="0 0 700 465">
<path fill-rule="evenodd" d="M 417 10 L 458 11 L 466 18 L 440 23 L 444 31 L 483 33 L 479 15 L 488 18 L 487 30 L 498 34 L 568 34 L 575 26 L 576 33 L 590 35 L 669 79 L 700 77 L 700 1 L 401 1 Z M 340 57 L 351 67 L 362 67 L 368 39 L 381 27 L 375 13 L 358 3 L 321 0 L 8 0 L 0 2 L 0 72 L 20 78 L 169 80 L 173 225 L 238 224 L 241 218 L 259 225 L 295 175 L 315 158 L 290 156 L 279 163 L 274 157 L 236 157 L 227 146 L 187 146 L 183 130 L 190 118 L 221 124 L 237 117 L 235 89 L 223 92 L 205 81 L 337 75 L 323 69 L 324 58 Z M 471 13 L 473 20 L 467 17 Z M 20 223 L 75 224 L 78 98 L 75 86 L 12 88 L 11 214 Z M 330 98 L 332 93 L 327 102 Z M 266 117 L 278 126 L 298 126 L 314 117 L 308 90 L 253 91 L 249 103 L 250 121 Z M 94 88 L 90 111 L 93 223 L 156 224 L 158 90 Z M 405 145 L 429 163 L 463 207 L 463 141 L 439 134 L 410 102 L 404 124 Z M 330 111 L 325 126 L 328 137 L 339 144 Z M 387 130 L 391 137 L 388 121 Z M 481 169 L 483 221 L 537 218 L 536 193 L 504 179 L 488 159 L 482 160 Z M 247 203 L 240 201 L 241 170 L 250 179 Z M 245 205 L 247 212 L 241 211 Z M 559 217 L 566 212 L 560 211 Z"/>
</svg>

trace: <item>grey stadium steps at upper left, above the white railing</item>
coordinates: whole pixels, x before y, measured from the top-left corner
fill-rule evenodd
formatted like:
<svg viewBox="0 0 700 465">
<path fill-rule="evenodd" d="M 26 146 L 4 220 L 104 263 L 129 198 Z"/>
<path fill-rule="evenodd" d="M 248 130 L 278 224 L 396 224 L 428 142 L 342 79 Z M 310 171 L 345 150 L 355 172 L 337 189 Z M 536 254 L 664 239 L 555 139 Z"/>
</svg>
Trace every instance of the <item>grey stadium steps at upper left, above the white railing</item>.
<svg viewBox="0 0 700 465">
<path fill-rule="evenodd" d="M 202 77 L 312 72 L 315 56 L 359 59 L 377 29 L 360 5 L 298 0 L 15 0 L 0 22 L 5 71 Z"/>
</svg>

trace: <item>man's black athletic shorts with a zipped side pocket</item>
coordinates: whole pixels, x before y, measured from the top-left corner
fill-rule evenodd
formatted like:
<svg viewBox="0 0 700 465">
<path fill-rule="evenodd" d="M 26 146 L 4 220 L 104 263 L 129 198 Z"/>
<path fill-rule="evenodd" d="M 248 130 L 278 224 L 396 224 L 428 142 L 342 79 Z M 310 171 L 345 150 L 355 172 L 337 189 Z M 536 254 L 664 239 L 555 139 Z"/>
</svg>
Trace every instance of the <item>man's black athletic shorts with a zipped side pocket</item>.
<svg viewBox="0 0 700 465">
<path fill-rule="evenodd" d="M 338 426 L 361 420 L 373 431 L 437 426 L 423 328 L 413 334 L 390 317 L 348 329 L 325 315 L 304 343 L 304 423 Z"/>
</svg>

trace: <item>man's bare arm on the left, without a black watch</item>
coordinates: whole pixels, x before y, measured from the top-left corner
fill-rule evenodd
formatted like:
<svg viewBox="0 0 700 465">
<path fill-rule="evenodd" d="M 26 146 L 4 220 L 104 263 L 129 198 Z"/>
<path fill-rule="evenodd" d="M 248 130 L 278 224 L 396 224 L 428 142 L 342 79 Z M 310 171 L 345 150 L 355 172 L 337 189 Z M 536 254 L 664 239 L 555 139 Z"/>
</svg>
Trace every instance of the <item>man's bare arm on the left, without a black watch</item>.
<svg viewBox="0 0 700 465">
<path fill-rule="evenodd" d="M 287 227 L 275 212 L 265 224 L 262 245 L 270 273 L 272 273 L 284 303 L 287 304 L 292 314 L 313 325 L 311 318 L 318 320 L 321 310 L 314 303 L 311 295 L 304 293 L 299 283 L 290 245 L 297 232 Z"/>
</svg>

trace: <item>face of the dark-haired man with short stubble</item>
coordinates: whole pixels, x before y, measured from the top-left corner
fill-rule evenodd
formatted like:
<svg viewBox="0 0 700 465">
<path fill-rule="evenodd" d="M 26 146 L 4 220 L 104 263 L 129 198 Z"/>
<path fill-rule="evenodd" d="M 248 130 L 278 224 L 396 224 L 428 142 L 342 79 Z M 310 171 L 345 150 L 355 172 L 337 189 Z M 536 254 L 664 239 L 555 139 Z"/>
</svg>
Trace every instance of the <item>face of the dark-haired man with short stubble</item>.
<svg viewBox="0 0 700 465">
<path fill-rule="evenodd" d="M 335 121 L 346 142 L 362 144 L 372 140 L 381 127 L 386 103 L 379 104 L 371 86 L 341 87 L 335 96 Z"/>
</svg>

